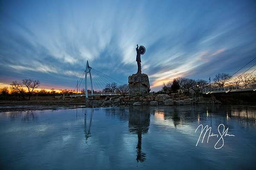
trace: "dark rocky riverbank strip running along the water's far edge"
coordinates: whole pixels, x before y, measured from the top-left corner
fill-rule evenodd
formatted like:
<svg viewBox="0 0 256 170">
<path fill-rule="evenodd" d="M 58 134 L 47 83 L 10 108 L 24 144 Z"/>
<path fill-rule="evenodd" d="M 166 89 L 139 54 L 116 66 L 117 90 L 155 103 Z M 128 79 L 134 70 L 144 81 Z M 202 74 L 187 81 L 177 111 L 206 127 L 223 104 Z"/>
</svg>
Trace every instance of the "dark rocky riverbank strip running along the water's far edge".
<svg viewBox="0 0 256 170">
<path fill-rule="evenodd" d="M 235 98 L 235 97 L 233 97 Z M 226 96 L 213 96 L 213 95 L 198 95 L 186 96 L 181 93 L 176 94 L 158 94 L 148 96 L 106 96 L 102 99 L 89 99 L 85 100 L 84 97 L 62 97 L 55 99 L 55 97 L 39 98 L 41 100 L 0 100 L 0 112 L 6 111 L 33 111 L 33 110 L 55 110 L 66 108 L 100 108 L 100 107 L 120 107 L 120 106 L 171 106 L 171 105 L 250 105 L 255 106 L 253 102 L 246 102 L 245 99 L 237 102 L 234 99 L 227 98 Z M 54 100 L 53 100 L 54 99 Z M 241 96 L 239 96 L 241 99 Z M 248 98 L 249 99 L 249 98 Z M 254 101 L 254 100 L 250 100 Z"/>
</svg>

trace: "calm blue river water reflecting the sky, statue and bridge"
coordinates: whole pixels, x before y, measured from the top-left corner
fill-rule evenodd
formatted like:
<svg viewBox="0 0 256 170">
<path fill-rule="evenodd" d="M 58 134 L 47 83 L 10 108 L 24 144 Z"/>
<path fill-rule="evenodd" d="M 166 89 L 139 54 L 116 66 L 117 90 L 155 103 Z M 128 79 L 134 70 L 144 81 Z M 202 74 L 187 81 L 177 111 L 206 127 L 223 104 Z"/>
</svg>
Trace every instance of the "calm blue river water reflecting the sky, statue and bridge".
<svg viewBox="0 0 256 170">
<path fill-rule="evenodd" d="M 228 127 L 198 142 L 198 125 Z M 206 137 L 207 138 L 207 137 Z M 220 143 L 221 144 L 221 143 Z M 256 109 L 221 105 L 0 113 L 2 170 L 256 169 Z"/>
</svg>

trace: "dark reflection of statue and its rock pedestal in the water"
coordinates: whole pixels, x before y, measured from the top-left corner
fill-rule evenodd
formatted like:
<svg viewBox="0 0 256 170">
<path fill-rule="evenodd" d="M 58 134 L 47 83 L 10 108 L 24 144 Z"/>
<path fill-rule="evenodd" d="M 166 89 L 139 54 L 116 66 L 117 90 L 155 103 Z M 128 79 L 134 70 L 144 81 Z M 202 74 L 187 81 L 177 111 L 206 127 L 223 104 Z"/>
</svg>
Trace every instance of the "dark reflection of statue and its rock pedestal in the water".
<svg viewBox="0 0 256 170">
<path fill-rule="evenodd" d="M 137 162 L 143 162 L 146 159 L 146 154 L 141 150 L 142 134 L 148 133 L 150 124 L 150 110 L 144 106 L 131 106 L 129 108 L 129 131 L 137 133 Z"/>
</svg>

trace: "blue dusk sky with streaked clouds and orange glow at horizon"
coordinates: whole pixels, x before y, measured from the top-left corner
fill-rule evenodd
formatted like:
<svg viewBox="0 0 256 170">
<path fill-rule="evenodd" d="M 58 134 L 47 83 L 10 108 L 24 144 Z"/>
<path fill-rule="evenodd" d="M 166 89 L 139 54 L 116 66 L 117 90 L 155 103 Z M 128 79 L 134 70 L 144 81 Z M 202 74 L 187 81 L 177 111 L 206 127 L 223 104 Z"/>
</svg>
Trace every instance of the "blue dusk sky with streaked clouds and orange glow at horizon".
<svg viewBox="0 0 256 170">
<path fill-rule="evenodd" d="M 255 9 L 255 0 L 0 0 L 0 86 L 31 78 L 73 90 L 87 60 L 128 83 L 137 44 L 152 91 L 233 74 L 256 57 Z"/>
</svg>

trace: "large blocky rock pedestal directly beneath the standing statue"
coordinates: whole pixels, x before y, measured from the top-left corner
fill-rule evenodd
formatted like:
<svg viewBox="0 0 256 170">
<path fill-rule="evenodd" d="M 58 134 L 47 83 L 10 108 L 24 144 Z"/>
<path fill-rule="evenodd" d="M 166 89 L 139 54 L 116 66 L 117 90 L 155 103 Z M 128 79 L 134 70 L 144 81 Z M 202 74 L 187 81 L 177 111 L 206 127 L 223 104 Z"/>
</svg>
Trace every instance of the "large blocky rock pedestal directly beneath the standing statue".
<svg viewBox="0 0 256 170">
<path fill-rule="evenodd" d="M 147 74 L 133 74 L 129 76 L 128 82 L 130 97 L 148 95 L 150 85 Z"/>
</svg>

